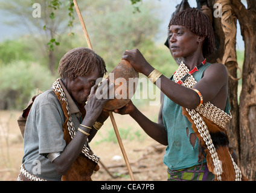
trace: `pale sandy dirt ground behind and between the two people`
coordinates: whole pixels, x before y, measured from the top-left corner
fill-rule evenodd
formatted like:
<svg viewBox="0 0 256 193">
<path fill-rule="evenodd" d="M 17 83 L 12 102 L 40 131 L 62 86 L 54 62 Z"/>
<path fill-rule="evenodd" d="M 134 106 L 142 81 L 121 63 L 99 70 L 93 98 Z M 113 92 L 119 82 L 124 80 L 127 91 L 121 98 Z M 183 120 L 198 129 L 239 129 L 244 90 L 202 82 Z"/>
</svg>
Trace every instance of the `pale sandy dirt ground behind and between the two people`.
<svg viewBox="0 0 256 193">
<path fill-rule="evenodd" d="M 156 121 L 158 109 L 158 106 L 149 106 L 147 109 L 140 110 L 152 121 Z M 1 181 L 16 180 L 19 174 L 23 156 L 23 139 L 16 119 L 20 113 L 0 111 Z M 165 181 L 167 179 L 167 167 L 162 163 L 165 146 L 149 138 L 130 116 L 114 114 L 114 117 L 135 180 Z M 130 180 L 120 147 L 117 142 L 111 140 L 115 138 L 112 136 L 113 130 L 110 119 L 107 119 L 90 144 L 92 151 L 101 157 L 100 170 L 92 175 L 92 180 Z M 107 169 L 104 169 L 102 164 Z"/>
</svg>

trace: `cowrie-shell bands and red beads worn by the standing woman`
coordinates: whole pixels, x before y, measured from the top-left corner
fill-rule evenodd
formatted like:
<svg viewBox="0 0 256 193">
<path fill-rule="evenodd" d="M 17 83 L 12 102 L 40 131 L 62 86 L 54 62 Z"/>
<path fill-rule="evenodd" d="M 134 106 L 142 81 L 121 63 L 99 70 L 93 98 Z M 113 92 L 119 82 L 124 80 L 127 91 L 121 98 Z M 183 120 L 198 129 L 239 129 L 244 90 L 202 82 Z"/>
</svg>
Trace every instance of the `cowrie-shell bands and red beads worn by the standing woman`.
<svg viewBox="0 0 256 193">
<path fill-rule="evenodd" d="M 203 61 L 205 63 L 205 60 Z M 202 63 L 203 63 L 202 62 Z M 202 67 L 202 63 L 200 64 L 199 68 Z M 198 66 L 197 71 L 198 71 Z M 192 70 L 193 72 L 196 72 L 195 68 Z M 187 72 L 187 73 L 186 73 Z M 193 73 L 192 72 L 192 73 Z M 176 73 L 176 74 L 175 74 Z M 185 80 L 188 78 L 188 80 L 185 83 L 182 83 L 183 86 L 192 88 L 194 84 L 197 83 L 197 81 L 194 79 L 191 71 L 188 72 L 188 67 L 181 62 L 181 65 L 179 65 L 179 68 L 176 72 L 174 72 L 174 81 L 178 83 L 179 77 L 183 77 L 180 80 Z M 185 74 L 185 75 L 184 75 Z M 189 75 L 187 75 L 189 74 Z M 190 77 L 191 75 L 191 77 Z M 184 79 L 185 77 L 185 79 Z M 172 77 L 171 77 L 172 79 Z M 222 165 L 219 159 L 219 155 L 216 151 L 216 148 L 214 147 L 213 140 L 211 139 L 211 134 L 210 131 L 208 130 L 208 127 L 206 123 L 203 121 L 203 118 L 200 114 L 205 116 L 205 118 L 209 119 L 210 121 L 213 121 L 215 124 L 219 125 L 220 127 L 223 127 L 225 129 L 226 122 L 228 122 L 232 116 L 231 113 L 228 115 L 225 113 L 223 110 L 218 109 L 216 106 L 211 104 L 210 102 L 202 104 L 200 107 L 196 107 L 196 109 L 187 109 L 188 115 L 191 116 L 191 119 L 194 121 L 194 124 L 196 125 L 197 131 L 202 137 L 203 141 L 206 144 L 206 147 L 208 148 L 210 152 L 211 159 L 213 160 L 213 165 L 214 165 L 214 172 L 216 173 L 217 180 L 221 181 L 222 177 Z M 229 153 L 229 152 L 228 152 Z M 234 159 L 232 159 L 231 154 L 229 153 L 229 156 L 231 157 L 232 165 L 235 169 L 235 180 L 236 181 L 241 181 L 242 180 L 242 172 L 240 168 L 238 168 L 237 164 L 234 162 Z"/>
</svg>

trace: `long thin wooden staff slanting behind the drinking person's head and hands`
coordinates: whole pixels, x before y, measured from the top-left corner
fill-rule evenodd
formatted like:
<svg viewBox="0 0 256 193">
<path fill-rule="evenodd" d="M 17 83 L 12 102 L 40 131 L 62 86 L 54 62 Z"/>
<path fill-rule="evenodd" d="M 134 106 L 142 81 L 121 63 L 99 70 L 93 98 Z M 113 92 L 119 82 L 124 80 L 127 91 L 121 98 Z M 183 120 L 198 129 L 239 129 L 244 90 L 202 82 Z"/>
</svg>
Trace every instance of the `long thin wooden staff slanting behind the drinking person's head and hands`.
<svg viewBox="0 0 256 193">
<path fill-rule="evenodd" d="M 75 10 L 77 11 L 77 14 L 78 14 L 78 17 L 79 17 L 79 20 L 80 20 L 80 23 L 83 27 L 83 33 L 85 34 L 85 38 L 86 38 L 86 42 L 88 44 L 88 47 L 90 49 L 92 49 L 92 45 L 91 45 L 91 41 L 89 39 L 89 35 L 88 35 L 88 31 L 86 30 L 86 27 L 85 27 L 85 22 L 83 21 L 83 17 L 82 17 L 82 14 L 80 12 L 80 9 L 77 5 L 77 1 L 74 0 L 74 5 L 75 5 Z M 115 118 L 114 118 L 114 115 L 112 113 L 112 111 L 109 111 L 109 116 L 110 116 L 110 119 L 111 119 L 111 122 L 112 122 L 112 125 L 114 127 L 114 130 L 115 130 L 115 135 L 117 136 L 117 141 L 118 141 L 118 144 L 120 146 L 120 149 L 123 153 L 123 157 L 124 157 L 124 160 L 126 162 L 126 166 L 127 166 L 127 169 L 129 171 L 129 174 L 130 174 L 130 179 L 132 179 L 132 181 L 135 181 L 134 179 L 134 176 L 133 176 L 133 172 L 132 172 L 132 168 L 130 167 L 130 163 L 129 163 L 129 160 L 128 160 L 128 157 L 127 157 L 127 154 L 126 154 L 126 151 L 124 150 L 124 145 L 123 145 L 123 142 L 120 138 L 120 134 L 119 134 L 119 131 L 118 131 L 118 128 L 117 128 L 117 124 L 115 122 Z"/>
</svg>

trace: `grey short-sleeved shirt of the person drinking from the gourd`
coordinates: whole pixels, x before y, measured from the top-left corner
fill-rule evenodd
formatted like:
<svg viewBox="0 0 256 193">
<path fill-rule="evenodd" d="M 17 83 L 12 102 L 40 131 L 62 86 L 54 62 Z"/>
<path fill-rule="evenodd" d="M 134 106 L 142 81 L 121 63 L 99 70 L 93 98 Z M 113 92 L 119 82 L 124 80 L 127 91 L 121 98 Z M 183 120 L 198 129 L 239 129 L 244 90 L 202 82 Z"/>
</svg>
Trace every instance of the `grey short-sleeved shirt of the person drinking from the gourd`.
<svg viewBox="0 0 256 193">
<path fill-rule="evenodd" d="M 62 82 L 61 85 L 69 104 L 75 130 L 77 130 L 82 114 Z M 62 152 L 65 149 L 66 142 L 63 139 L 62 130 L 64 121 L 63 110 L 53 89 L 36 97 L 25 126 L 22 159 L 25 169 L 34 176 L 46 180 L 61 180 L 61 175 L 46 155 Z"/>
</svg>

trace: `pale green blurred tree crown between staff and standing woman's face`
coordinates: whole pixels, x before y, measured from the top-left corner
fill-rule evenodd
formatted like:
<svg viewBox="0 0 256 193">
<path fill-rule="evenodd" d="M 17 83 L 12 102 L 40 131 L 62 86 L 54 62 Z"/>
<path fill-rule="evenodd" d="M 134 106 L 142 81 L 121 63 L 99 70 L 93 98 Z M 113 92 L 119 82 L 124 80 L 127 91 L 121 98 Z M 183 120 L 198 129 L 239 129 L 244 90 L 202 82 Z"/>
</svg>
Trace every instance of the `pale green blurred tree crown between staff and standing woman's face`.
<svg viewBox="0 0 256 193">
<path fill-rule="evenodd" d="M 121 61 L 126 49 L 154 47 L 153 39 L 159 27 L 154 7 L 144 4 L 140 13 L 133 14 L 130 4 L 112 1 L 112 7 L 92 13 L 94 17 L 85 21 L 92 46 L 105 60 L 108 71 Z"/>
</svg>

